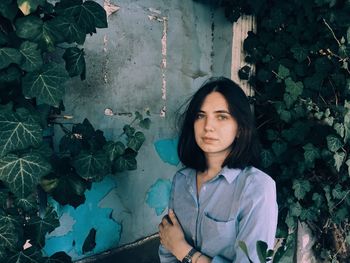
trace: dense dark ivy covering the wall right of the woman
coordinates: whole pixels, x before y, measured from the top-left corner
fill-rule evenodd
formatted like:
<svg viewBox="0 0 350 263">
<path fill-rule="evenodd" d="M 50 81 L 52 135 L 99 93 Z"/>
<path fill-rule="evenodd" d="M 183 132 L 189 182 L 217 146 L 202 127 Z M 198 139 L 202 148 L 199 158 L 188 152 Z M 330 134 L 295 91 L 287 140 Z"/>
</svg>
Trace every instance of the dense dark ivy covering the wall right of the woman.
<svg viewBox="0 0 350 263">
<path fill-rule="evenodd" d="M 350 2 L 223 0 L 257 19 L 240 77 L 254 91 L 262 165 L 277 183 L 277 257 L 292 262 L 298 220 L 325 262 L 350 258 Z M 250 72 L 249 63 L 256 65 Z M 275 261 L 274 261 L 275 262 Z"/>
</svg>

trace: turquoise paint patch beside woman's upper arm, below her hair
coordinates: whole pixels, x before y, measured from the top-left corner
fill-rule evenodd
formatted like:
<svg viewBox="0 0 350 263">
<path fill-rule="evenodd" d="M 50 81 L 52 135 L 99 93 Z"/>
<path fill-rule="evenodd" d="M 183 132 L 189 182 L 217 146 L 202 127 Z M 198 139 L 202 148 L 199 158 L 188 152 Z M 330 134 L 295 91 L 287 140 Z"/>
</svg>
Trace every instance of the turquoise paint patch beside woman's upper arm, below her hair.
<svg viewBox="0 0 350 263">
<path fill-rule="evenodd" d="M 157 216 L 161 215 L 168 207 L 171 182 L 166 179 L 158 179 L 148 190 L 146 203 L 154 208 Z"/>
</svg>

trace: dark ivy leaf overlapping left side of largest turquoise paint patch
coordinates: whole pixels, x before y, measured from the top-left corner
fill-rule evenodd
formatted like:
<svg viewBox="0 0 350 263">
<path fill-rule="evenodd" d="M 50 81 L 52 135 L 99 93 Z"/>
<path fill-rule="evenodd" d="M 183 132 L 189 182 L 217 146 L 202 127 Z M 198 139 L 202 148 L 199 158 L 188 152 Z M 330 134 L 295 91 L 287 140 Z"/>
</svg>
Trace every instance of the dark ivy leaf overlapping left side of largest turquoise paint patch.
<svg viewBox="0 0 350 263">
<path fill-rule="evenodd" d="M 47 207 L 43 217 L 33 216 L 26 224 L 26 232 L 31 237 L 32 244 L 44 247 L 45 235 L 60 225 L 56 211 Z"/>
</svg>

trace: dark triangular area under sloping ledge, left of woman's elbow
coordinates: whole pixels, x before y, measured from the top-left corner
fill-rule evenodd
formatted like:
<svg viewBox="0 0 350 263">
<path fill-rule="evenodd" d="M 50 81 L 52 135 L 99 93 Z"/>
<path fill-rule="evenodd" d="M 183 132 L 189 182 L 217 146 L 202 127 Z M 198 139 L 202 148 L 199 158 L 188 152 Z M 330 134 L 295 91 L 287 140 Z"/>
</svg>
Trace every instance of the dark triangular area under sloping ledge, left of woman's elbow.
<svg viewBox="0 0 350 263">
<path fill-rule="evenodd" d="M 159 236 L 140 239 L 134 243 L 118 247 L 104 253 L 94 255 L 76 263 L 159 263 L 158 258 Z"/>
</svg>

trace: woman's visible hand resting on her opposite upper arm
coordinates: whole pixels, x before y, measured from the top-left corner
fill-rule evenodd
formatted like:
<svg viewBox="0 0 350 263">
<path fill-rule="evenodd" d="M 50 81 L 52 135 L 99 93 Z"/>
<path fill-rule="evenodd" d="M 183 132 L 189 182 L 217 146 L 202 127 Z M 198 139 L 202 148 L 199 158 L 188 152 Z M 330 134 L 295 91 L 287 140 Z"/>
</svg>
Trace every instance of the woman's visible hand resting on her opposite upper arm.
<svg viewBox="0 0 350 263">
<path fill-rule="evenodd" d="M 180 261 L 191 250 L 191 246 L 185 240 L 184 232 L 172 209 L 164 216 L 159 224 L 160 243 Z"/>
</svg>

